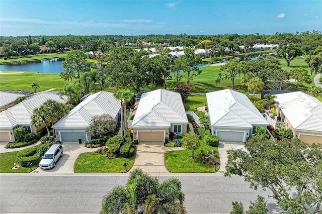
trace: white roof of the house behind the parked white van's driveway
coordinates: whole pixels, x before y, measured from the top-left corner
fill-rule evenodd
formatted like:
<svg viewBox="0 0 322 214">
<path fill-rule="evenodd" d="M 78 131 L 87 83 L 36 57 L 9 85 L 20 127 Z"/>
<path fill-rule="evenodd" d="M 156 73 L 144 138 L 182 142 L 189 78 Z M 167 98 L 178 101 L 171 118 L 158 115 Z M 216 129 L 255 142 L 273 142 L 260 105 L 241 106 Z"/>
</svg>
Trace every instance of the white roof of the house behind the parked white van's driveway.
<svg viewBox="0 0 322 214">
<path fill-rule="evenodd" d="M 120 103 L 120 100 L 116 99 L 111 92 L 100 91 L 91 94 L 52 127 L 86 128 L 91 124 L 94 116 L 108 114 L 116 118 L 121 110 Z"/>
</svg>

